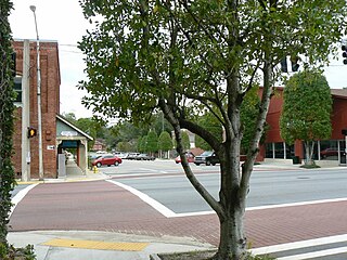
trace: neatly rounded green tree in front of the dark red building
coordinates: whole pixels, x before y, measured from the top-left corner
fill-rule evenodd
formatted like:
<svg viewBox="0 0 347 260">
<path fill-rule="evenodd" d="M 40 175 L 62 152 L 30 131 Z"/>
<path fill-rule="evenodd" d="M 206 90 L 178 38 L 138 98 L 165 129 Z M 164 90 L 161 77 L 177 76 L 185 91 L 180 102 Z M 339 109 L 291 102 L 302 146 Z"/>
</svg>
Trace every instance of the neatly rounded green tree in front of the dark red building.
<svg viewBox="0 0 347 260">
<path fill-rule="evenodd" d="M 332 133 L 332 95 L 320 70 L 306 69 L 290 78 L 283 92 L 280 119 L 281 136 L 286 143 L 303 140 L 306 165 L 312 165 L 314 142 L 330 139 Z"/>
</svg>

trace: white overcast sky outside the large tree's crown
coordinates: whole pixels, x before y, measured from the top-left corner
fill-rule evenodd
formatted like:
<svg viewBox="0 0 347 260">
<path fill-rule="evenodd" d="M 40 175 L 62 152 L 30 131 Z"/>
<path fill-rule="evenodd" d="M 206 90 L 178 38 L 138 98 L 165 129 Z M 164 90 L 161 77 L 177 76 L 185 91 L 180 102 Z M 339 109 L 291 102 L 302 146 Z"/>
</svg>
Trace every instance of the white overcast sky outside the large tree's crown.
<svg viewBox="0 0 347 260">
<path fill-rule="evenodd" d="M 10 16 L 13 38 L 36 39 L 34 14 L 29 5 L 36 5 L 39 38 L 56 40 L 61 67 L 61 113 L 75 113 L 77 118 L 90 117 L 91 112 L 81 104 L 85 93 L 77 89 L 79 80 L 85 79 L 82 54 L 77 41 L 90 25 L 83 18 L 78 0 L 12 0 L 14 10 Z M 333 61 L 325 76 L 333 89 L 347 87 L 347 65 L 342 58 Z"/>
</svg>

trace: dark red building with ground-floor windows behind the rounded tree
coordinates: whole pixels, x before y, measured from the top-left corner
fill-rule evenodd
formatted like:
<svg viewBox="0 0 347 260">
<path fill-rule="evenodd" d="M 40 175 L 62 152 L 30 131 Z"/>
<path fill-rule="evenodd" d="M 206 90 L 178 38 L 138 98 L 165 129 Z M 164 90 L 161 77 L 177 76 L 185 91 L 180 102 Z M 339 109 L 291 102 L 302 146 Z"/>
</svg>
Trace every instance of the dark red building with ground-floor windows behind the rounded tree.
<svg viewBox="0 0 347 260">
<path fill-rule="evenodd" d="M 347 89 L 332 89 L 333 113 L 331 115 L 332 135 L 330 140 L 320 140 L 314 145 L 313 159 L 318 164 L 345 164 L 345 135 L 343 129 L 347 129 Z M 304 158 L 303 142 L 296 141 L 294 145 L 287 145 L 280 133 L 280 116 L 283 106 L 283 88 L 277 88 L 272 96 L 267 116 L 269 130 L 266 144 L 260 151 L 260 156 L 266 159 L 292 159 L 293 156 Z"/>
</svg>

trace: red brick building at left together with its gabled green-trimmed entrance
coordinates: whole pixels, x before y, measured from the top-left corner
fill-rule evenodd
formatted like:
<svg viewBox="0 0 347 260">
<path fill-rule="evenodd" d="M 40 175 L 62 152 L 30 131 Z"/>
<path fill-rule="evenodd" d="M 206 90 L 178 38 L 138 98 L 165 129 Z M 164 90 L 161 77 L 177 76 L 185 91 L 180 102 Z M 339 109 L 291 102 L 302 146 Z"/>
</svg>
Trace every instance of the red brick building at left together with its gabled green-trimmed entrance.
<svg viewBox="0 0 347 260">
<path fill-rule="evenodd" d="M 16 77 L 14 79 L 17 91 L 15 102 L 15 133 L 13 165 L 17 177 L 22 174 L 22 79 L 23 79 L 23 55 L 24 41 L 13 41 L 13 49 L 16 53 Z M 37 48 L 36 41 L 29 43 L 29 127 L 38 129 L 38 99 L 37 99 Z M 40 41 L 40 70 L 41 70 L 41 129 L 42 129 L 42 161 L 43 178 L 59 177 L 60 154 L 64 150 L 74 150 L 77 157 L 77 165 L 82 172 L 87 170 L 87 147 L 91 138 L 70 125 L 60 116 L 60 64 L 59 44 L 56 41 Z M 39 138 L 30 138 L 30 178 L 39 178 Z M 65 169 L 64 169 L 65 172 Z"/>
</svg>

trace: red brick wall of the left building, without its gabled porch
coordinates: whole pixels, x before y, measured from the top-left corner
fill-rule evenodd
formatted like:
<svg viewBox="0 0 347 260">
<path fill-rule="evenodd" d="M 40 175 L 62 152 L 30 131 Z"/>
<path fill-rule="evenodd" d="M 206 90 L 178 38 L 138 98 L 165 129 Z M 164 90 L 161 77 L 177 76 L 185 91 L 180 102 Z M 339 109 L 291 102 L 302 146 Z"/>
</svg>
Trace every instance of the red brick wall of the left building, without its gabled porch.
<svg viewBox="0 0 347 260">
<path fill-rule="evenodd" d="M 23 74 L 23 41 L 14 41 L 13 49 L 16 52 L 16 74 Z M 36 42 L 30 42 L 30 78 L 29 78 L 29 106 L 30 127 L 38 127 L 37 118 L 37 51 Z M 41 68 L 41 116 L 42 116 L 42 154 L 43 177 L 56 178 L 56 119 L 60 113 L 60 68 L 57 42 L 40 41 L 40 68 Z M 15 172 L 22 171 L 22 108 L 15 113 L 14 156 Z M 54 150 L 48 150 L 48 146 Z M 30 139 L 31 178 L 38 178 L 38 136 Z"/>
</svg>

